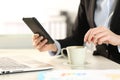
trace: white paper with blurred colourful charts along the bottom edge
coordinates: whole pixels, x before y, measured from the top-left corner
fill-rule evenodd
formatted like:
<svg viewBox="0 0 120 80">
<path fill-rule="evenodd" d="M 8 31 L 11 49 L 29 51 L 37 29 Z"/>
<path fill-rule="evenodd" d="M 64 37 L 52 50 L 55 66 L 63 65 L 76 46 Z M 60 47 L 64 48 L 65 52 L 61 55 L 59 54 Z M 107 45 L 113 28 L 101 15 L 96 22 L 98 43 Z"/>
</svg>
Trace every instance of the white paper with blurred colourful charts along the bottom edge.
<svg viewBox="0 0 120 80">
<path fill-rule="evenodd" d="M 58 70 L 40 72 L 38 80 L 120 80 L 119 70 Z"/>
</svg>

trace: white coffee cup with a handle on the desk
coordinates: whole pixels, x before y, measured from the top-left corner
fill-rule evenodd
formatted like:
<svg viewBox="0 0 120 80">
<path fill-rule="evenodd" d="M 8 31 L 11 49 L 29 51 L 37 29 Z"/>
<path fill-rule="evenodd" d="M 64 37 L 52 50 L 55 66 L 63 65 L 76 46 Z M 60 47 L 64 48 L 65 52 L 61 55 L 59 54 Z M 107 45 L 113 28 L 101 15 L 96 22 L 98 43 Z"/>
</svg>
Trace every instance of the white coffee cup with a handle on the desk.
<svg viewBox="0 0 120 80">
<path fill-rule="evenodd" d="M 67 51 L 68 63 L 71 66 L 83 66 L 85 64 L 86 48 L 84 46 L 68 46 L 61 50 L 61 54 L 64 55 L 64 50 Z"/>
</svg>

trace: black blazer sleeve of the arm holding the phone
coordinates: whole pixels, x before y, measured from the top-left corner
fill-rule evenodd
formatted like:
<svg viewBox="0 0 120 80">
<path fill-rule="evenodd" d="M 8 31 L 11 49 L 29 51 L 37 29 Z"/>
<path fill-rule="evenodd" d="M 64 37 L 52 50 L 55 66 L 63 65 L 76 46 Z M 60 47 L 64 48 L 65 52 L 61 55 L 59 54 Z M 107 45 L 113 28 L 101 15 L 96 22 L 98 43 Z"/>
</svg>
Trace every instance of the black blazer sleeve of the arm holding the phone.
<svg viewBox="0 0 120 80">
<path fill-rule="evenodd" d="M 89 29 L 88 21 L 86 18 L 84 0 L 81 0 L 76 20 L 73 26 L 72 35 L 65 39 L 57 40 L 61 44 L 61 48 L 72 45 L 83 45 L 84 35 Z"/>
</svg>

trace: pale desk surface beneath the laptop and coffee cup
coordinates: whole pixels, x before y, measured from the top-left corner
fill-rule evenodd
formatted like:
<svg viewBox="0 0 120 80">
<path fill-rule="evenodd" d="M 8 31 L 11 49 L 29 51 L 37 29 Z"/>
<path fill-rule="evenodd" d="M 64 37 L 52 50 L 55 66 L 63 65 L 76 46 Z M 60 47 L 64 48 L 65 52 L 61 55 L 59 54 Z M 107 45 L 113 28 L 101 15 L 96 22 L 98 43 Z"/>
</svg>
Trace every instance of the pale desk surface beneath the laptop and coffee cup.
<svg viewBox="0 0 120 80">
<path fill-rule="evenodd" d="M 67 59 L 59 56 L 50 56 L 47 52 L 39 52 L 36 49 L 2 49 L 0 50 L 0 56 L 13 57 L 17 56 L 20 59 L 21 56 L 33 57 L 37 60 L 47 62 L 54 66 L 53 70 L 71 70 L 72 68 L 66 64 Z M 109 70 L 109 69 L 120 69 L 120 65 L 106 59 L 102 56 L 93 56 L 87 54 L 85 70 Z M 37 80 L 38 72 L 27 72 L 17 74 L 0 75 L 0 80 Z"/>
</svg>

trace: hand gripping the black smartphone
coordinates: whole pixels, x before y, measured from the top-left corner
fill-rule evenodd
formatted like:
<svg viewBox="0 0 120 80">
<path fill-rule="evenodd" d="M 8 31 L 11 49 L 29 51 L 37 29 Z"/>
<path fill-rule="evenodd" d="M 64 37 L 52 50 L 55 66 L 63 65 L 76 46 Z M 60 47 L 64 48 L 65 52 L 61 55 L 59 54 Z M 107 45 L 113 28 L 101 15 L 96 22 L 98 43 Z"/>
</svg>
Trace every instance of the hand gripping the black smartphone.
<svg viewBox="0 0 120 80">
<path fill-rule="evenodd" d="M 53 51 L 57 52 L 57 47 L 55 44 L 47 44 L 47 39 L 45 39 L 43 36 L 40 36 L 39 34 L 34 34 L 32 36 L 32 42 L 33 46 L 41 51 Z"/>
</svg>

